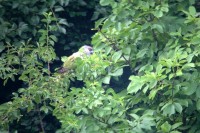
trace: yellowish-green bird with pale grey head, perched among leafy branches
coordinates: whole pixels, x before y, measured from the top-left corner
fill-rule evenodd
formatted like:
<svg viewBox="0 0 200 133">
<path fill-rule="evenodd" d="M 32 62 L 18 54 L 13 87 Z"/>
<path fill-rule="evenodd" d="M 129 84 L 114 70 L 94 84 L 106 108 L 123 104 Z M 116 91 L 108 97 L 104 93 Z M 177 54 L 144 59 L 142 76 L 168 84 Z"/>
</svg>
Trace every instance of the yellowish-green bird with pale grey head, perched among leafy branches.
<svg viewBox="0 0 200 133">
<path fill-rule="evenodd" d="M 74 61 L 77 58 L 85 58 L 87 56 L 90 56 L 91 54 L 93 54 L 93 48 L 91 46 L 88 45 L 84 45 L 82 46 L 78 52 L 73 53 L 71 56 L 69 56 L 65 61 L 63 66 L 58 70 L 59 73 L 65 73 L 68 72 L 69 70 L 73 69 L 74 66 Z"/>
</svg>

